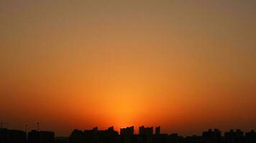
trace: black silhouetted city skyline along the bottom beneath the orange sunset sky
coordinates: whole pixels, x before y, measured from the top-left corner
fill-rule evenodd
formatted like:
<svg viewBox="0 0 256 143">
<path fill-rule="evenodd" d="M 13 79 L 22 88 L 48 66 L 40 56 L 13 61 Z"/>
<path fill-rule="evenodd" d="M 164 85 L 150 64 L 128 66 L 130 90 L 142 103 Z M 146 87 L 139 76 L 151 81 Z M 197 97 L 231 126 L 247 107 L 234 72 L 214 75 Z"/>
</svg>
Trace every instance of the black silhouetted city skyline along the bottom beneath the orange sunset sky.
<svg viewBox="0 0 256 143">
<path fill-rule="evenodd" d="M 139 134 L 134 134 L 134 127 L 120 129 L 120 134 L 114 127 L 98 130 L 74 129 L 70 137 L 55 137 L 54 132 L 36 131 L 23 132 L 19 130 L 0 129 L 0 143 L 256 143 L 256 132 L 230 130 L 221 134 L 219 129 L 209 129 L 201 136 L 182 137 L 178 134 L 160 134 L 160 127 L 140 127 Z"/>
</svg>

